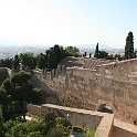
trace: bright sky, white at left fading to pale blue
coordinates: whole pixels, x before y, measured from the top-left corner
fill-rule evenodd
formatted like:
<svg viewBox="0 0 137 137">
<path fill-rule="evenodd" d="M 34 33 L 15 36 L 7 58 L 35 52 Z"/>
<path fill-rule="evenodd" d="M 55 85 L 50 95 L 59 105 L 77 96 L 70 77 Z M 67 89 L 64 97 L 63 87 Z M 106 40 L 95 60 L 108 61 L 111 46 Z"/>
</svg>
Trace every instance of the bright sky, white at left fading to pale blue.
<svg viewBox="0 0 137 137">
<path fill-rule="evenodd" d="M 0 0 L 0 46 L 105 44 L 137 48 L 137 0 Z"/>
</svg>

